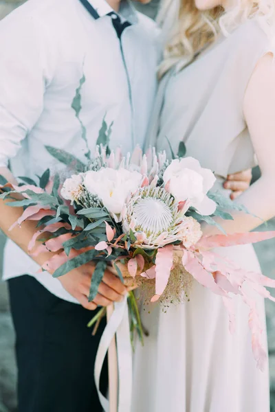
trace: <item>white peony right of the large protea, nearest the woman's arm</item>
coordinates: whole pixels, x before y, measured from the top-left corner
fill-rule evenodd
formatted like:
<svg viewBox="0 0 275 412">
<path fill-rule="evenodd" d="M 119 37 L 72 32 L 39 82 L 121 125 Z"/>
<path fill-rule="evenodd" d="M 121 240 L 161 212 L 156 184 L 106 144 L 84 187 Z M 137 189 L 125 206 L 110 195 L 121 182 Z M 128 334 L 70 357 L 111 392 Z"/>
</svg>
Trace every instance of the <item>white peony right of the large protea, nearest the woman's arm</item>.
<svg viewBox="0 0 275 412">
<path fill-rule="evenodd" d="M 199 161 L 193 157 L 173 160 L 164 172 L 164 185 L 177 202 L 190 201 L 201 215 L 214 213 L 216 203 L 208 198 L 207 193 L 216 178 L 209 169 L 201 168 Z"/>
</svg>

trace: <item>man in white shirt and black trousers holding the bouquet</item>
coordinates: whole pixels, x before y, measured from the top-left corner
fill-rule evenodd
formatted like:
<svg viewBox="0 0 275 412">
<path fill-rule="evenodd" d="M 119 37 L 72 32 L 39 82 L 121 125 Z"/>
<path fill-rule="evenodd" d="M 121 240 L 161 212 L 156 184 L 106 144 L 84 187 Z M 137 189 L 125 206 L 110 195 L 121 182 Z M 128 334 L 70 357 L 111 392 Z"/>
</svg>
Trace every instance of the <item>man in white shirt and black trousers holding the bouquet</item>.
<svg viewBox="0 0 275 412">
<path fill-rule="evenodd" d="M 143 144 L 155 95 L 157 31 L 131 3 L 28 0 L 1 21 L 0 38 L 0 174 L 8 181 L 36 179 L 51 165 L 46 144 L 85 159 L 104 116 L 113 122 L 113 148 Z M 87 144 L 72 108 L 77 89 Z M 37 274 L 53 253 L 28 256 L 35 224 L 8 230 L 21 212 L 0 201 L 0 228 L 10 238 L 4 277 L 17 334 L 19 412 L 99 412 L 94 358 L 102 328 L 91 339 L 86 323 L 90 310 L 120 301 L 126 289 L 107 271 L 89 303 L 92 264 L 61 279 Z"/>
</svg>

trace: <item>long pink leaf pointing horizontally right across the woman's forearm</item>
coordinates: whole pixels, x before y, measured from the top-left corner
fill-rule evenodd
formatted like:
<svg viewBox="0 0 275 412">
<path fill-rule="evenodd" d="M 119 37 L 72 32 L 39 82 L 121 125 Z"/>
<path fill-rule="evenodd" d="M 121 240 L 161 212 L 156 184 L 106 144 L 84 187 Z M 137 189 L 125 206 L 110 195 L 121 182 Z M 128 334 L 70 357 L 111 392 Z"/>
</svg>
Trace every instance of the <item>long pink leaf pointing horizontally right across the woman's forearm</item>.
<svg viewBox="0 0 275 412">
<path fill-rule="evenodd" d="M 228 247 L 236 244 L 250 244 L 275 237 L 275 231 L 233 233 L 231 235 L 203 236 L 197 243 L 198 247 Z"/>
</svg>

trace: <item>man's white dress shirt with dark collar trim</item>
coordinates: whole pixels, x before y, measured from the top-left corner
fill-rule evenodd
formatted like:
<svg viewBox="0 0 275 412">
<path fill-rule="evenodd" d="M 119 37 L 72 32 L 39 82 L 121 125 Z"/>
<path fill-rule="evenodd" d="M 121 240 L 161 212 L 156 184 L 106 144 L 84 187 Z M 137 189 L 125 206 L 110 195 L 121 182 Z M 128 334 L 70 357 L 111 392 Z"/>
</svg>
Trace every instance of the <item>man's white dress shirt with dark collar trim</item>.
<svg viewBox="0 0 275 412">
<path fill-rule="evenodd" d="M 85 1 L 85 0 L 84 0 Z M 80 119 L 94 149 L 105 116 L 113 122 L 111 148 L 124 152 L 142 145 L 155 96 L 157 28 L 130 3 L 120 18 L 128 27 L 116 34 L 105 0 L 89 0 L 92 16 L 80 0 L 28 0 L 0 23 L 0 167 L 15 176 L 36 177 L 54 159 L 45 145 L 85 159 L 87 146 L 72 108 L 80 91 Z M 49 273 L 8 240 L 4 279 L 34 275 L 48 290 L 76 301 Z"/>
</svg>

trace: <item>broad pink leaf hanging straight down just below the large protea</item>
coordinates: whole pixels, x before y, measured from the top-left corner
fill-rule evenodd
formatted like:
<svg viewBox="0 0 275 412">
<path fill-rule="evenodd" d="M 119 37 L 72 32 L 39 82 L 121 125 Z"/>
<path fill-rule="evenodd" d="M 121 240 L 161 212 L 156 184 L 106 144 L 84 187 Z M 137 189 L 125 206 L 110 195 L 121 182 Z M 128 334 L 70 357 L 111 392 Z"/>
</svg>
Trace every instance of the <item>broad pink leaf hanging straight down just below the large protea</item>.
<svg viewBox="0 0 275 412">
<path fill-rule="evenodd" d="M 157 250 L 155 258 L 155 294 L 161 296 L 168 283 L 173 266 L 173 245 Z"/>
</svg>

